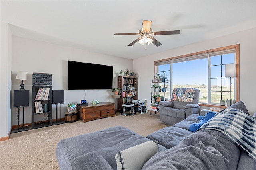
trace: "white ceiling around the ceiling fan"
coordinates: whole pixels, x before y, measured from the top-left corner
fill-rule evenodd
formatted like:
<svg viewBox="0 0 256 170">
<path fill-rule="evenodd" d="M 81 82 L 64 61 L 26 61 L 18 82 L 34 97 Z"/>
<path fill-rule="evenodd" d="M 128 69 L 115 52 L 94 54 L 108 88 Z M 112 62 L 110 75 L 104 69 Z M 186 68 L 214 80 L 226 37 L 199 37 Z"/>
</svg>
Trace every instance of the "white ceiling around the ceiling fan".
<svg viewBox="0 0 256 170">
<path fill-rule="evenodd" d="M 256 27 L 256 0 L 1 0 L 1 21 L 15 36 L 136 59 Z M 161 46 L 127 46 L 143 20 Z"/>
</svg>

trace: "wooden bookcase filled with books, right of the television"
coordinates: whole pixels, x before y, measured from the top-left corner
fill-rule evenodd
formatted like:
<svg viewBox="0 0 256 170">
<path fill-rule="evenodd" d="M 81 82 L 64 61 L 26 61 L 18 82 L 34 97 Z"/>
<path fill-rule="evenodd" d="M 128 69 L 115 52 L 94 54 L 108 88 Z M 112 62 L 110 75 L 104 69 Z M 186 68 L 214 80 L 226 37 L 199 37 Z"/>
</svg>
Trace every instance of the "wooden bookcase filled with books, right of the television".
<svg viewBox="0 0 256 170">
<path fill-rule="evenodd" d="M 135 76 L 118 76 L 117 87 L 120 88 L 120 100 L 118 109 L 122 109 L 123 104 L 131 104 L 132 100 L 137 99 L 137 87 Z"/>
</svg>

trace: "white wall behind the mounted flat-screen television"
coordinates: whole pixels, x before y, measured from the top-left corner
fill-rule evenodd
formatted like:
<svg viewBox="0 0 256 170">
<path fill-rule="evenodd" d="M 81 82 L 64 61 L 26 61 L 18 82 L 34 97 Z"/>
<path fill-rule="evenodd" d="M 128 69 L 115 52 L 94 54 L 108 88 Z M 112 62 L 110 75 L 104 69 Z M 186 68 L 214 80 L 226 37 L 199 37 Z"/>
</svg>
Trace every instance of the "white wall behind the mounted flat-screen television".
<svg viewBox="0 0 256 170">
<path fill-rule="evenodd" d="M 52 89 L 64 89 L 64 104 L 61 105 L 61 117 L 65 117 L 68 103 L 80 103 L 80 100 L 86 99 L 91 102 L 94 99 L 100 102 L 115 102 L 111 98 L 113 92 L 111 90 L 67 90 L 68 89 L 68 60 L 79 61 L 85 63 L 96 63 L 114 66 L 113 87 L 117 87 L 117 76 L 120 70 L 133 70 L 132 60 L 120 57 L 113 57 L 100 53 L 93 53 L 71 47 L 54 45 L 21 37 L 13 37 L 13 74 L 12 88 L 13 90 L 20 89 L 20 80 L 16 80 L 16 74 L 20 71 L 28 72 L 28 80 L 24 81 L 24 89 L 30 90 L 29 107 L 25 107 L 24 123 L 31 122 L 31 96 L 32 96 L 32 74 L 33 72 L 50 73 L 52 74 Z M 78 73 L 81 74 L 81 73 Z M 84 72 L 81 74 L 80 80 L 75 80 L 77 83 L 104 83 L 100 82 L 101 75 L 93 75 L 92 72 Z M 52 118 L 56 119 L 56 105 L 52 105 Z M 59 107 L 58 107 L 59 111 Z M 12 112 L 12 125 L 17 125 L 16 119 L 18 109 L 14 108 Z M 58 114 L 59 115 L 59 114 Z M 36 115 L 35 121 L 44 119 L 44 115 Z M 59 118 L 59 117 L 58 117 Z"/>
</svg>

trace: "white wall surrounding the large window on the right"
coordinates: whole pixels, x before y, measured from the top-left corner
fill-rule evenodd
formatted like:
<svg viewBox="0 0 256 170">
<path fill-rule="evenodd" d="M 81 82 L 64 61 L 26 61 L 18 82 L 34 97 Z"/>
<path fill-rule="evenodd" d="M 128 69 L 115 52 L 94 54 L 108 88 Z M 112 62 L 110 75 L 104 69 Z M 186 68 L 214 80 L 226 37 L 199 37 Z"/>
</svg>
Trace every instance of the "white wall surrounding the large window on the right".
<svg viewBox="0 0 256 170">
<path fill-rule="evenodd" d="M 151 80 L 154 79 L 154 61 L 208 49 L 215 49 L 218 47 L 225 47 L 228 45 L 240 44 L 240 100 L 244 102 L 252 115 L 256 112 L 254 98 L 254 88 L 256 86 L 255 42 L 256 28 L 134 59 L 133 68 L 140 75 L 138 89 L 140 99 L 146 99 L 148 101 L 148 106 L 150 106 L 150 88 Z M 148 48 L 150 48 L 150 46 L 148 46 Z"/>
</svg>

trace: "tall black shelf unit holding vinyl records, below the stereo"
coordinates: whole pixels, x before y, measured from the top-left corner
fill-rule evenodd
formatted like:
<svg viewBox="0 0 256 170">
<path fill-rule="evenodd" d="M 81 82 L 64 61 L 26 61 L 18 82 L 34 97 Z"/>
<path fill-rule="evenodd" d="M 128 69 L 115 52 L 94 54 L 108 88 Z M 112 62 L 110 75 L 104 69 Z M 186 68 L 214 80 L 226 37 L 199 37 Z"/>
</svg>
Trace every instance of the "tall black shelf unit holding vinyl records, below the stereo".
<svg viewBox="0 0 256 170">
<path fill-rule="evenodd" d="M 36 94 L 40 88 L 49 88 L 49 97 L 46 100 L 35 100 Z M 43 105 L 43 112 L 36 113 L 35 102 L 40 101 Z M 33 85 L 32 86 L 32 120 L 31 120 L 31 129 L 37 129 L 41 127 L 47 127 L 52 125 L 52 86 L 44 85 Z M 47 104 L 47 111 L 44 110 L 44 105 Z M 42 120 L 39 122 L 34 122 L 34 118 L 37 115 L 47 114 L 47 120 Z"/>
</svg>

